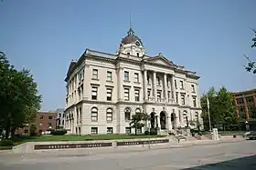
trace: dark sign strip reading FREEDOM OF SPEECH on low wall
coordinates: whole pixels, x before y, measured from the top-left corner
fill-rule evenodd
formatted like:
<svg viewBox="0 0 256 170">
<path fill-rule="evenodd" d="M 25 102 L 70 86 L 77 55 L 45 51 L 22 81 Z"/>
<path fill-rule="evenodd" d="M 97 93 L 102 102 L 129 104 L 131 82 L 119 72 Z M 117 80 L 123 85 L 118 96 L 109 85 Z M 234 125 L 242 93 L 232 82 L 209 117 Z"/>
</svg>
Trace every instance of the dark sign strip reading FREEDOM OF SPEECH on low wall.
<svg viewBox="0 0 256 170">
<path fill-rule="evenodd" d="M 91 147 L 110 147 L 112 143 L 91 143 L 91 144 L 54 144 L 54 145 L 35 145 L 35 150 L 40 149 L 71 149 L 71 148 L 91 148 Z"/>
</svg>

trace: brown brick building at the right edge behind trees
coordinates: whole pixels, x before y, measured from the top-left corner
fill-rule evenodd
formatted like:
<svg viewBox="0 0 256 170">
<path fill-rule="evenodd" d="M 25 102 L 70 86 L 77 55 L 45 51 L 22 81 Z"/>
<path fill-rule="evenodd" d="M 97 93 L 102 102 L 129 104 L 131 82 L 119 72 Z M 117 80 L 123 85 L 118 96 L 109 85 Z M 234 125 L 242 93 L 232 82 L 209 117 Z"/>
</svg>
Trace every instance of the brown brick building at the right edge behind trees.
<svg viewBox="0 0 256 170">
<path fill-rule="evenodd" d="M 256 129 L 256 89 L 233 93 L 234 105 L 237 106 L 236 114 L 240 118 L 240 123 L 249 122 L 252 129 Z"/>
</svg>

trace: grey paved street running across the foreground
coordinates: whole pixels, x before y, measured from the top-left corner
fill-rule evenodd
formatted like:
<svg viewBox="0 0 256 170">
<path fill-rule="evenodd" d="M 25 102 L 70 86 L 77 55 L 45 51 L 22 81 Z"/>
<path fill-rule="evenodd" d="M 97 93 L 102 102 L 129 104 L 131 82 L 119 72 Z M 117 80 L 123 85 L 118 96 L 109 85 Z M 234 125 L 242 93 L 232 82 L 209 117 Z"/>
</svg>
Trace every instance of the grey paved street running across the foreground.
<svg viewBox="0 0 256 170">
<path fill-rule="evenodd" d="M 256 141 L 109 154 L 4 154 L 1 170 L 199 170 L 256 169 Z M 72 151 L 70 151 L 72 152 Z M 222 162 L 222 163 L 220 163 Z M 218 164 L 217 164 L 218 163 Z"/>
</svg>

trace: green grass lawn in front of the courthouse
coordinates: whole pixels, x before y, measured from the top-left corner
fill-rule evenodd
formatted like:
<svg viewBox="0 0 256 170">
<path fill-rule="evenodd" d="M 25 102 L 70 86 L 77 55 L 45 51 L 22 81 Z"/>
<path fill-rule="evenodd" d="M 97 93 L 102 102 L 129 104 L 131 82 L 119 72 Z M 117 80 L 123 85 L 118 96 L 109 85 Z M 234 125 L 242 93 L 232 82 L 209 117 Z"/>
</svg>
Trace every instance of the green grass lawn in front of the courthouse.
<svg viewBox="0 0 256 170">
<path fill-rule="evenodd" d="M 59 141 L 93 141 L 93 140 L 114 140 L 114 139 L 136 139 L 164 137 L 165 135 L 41 135 L 41 136 L 20 136 L 15 139 L 15 145 L 26 142 L 59 142 Z"/>
</svg>

